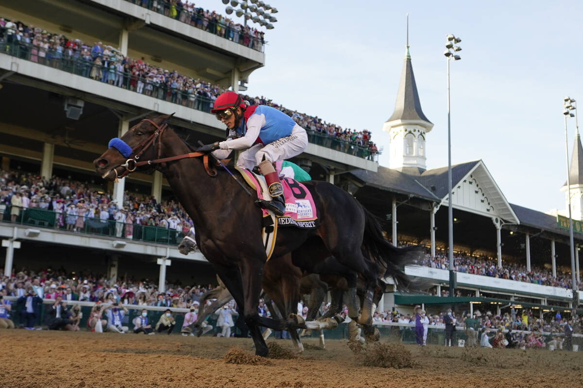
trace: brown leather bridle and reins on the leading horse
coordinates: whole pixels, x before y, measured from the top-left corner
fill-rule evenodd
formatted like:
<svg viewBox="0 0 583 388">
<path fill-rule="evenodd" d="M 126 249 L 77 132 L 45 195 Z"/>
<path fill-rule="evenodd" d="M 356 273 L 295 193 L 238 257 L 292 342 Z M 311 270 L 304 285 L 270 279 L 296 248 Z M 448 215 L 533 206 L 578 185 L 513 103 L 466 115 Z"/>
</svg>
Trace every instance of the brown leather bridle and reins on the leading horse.
<svg viewBox="0 0 583 388">
<path fill-rule="evenodd" d="M 209 155 L 206 154 L 205 152 L 188 152 L 188 154 L 182 154 L 182 155 L 176 155 L 176 156 L 170 156 L 168 158 L 160 158 L 161 155 L 161 151 L 162 151 L 162 142 L 161 142 L 161 137 L 162 137 L 162 133 L 164 133 L 164 130 L 166 130 L 168 128 L 168 124 L 167 123 L 163 123 L 161 126 L 159 126 L 158 124 L 154 123 L 152 120 L 150 119 L 142 119 L 141 122 L 149 122 L 150 124 L 152 124 L 154 127 L 156 127 L 156 131 L 150 135 L 150 137 L 148 137 L 146 140 L 142 141 L 142 143 L 136 145 L 136 147 L 132 148 L 132 154 L 134 152 L 136 152 L 136 150 L 138 150 L 139 148 L 140 151 L 134 155 L 133 158 L 129 158 L 127 161 L 125 161 L 125 164 L 121 165 L 122 167 L 125 168 L 125 171 L 122 172 L 119 176 L 117 176 L 118 178 L 123 178 L 127 175 L 130 175 L 132 172 L 134 172 L 136 170 L 136 168 L 141 167 L 141 166 L 145 166 L 145 165 L 155 165 L 155 164 L 159 164 L 159 163 L 166 163 L 166 162 L 173 162 L 173 161 L 177 161 L 180 159 L 187 159 L 187 158 L 196 158 L 198 156 L 202 156 L 202 161 L 203 161 L 203 165 L 205 166 L 205 171 L 209 176 L 216 176 L 217 172 L 215 170 L 215 168 L 211 165 L 209 165 Z M 147 149 L 149 149 L 150 147 L 158 147 L 158 158 L 157 159 L 152 159 L 149 161 L 139 161 L 139 159 L 141 158 L 141 156 L 144 154 L 144 152 L 147 151 Z M 230 159 L 224 159 L 224 162 L 228 163 Z M 114 169 L 115 171 L 115 169 Z M 116 175 L 117 175 L 117 171 Z"/>
</svg>

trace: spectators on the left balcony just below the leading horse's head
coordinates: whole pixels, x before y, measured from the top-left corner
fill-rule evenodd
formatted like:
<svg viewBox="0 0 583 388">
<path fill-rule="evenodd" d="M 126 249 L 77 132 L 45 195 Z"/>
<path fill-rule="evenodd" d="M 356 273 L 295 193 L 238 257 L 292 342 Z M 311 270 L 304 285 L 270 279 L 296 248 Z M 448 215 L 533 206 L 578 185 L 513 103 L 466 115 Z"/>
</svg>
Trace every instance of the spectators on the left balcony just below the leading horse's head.
<svg viewBox="0 0 583 388">
<path fill-rule="evenodd" d="M 187 234 L 192 220 L 174 200 L 151 195 L 124 195 L 124 205 L 111 200 L 102 187 L 53 176 L 0 170 L 0 205 L 15 222 L 24 209 L 55 212 L 54 227 L 81 232 L 87 220 L 115 221 L 115 235 L 132 239 L 136 225 L 158 226 Z M 124 226 L 125 224 L 125 226 Z M 136 236 L 138 237 L 138 236 Z"/>
</svg>

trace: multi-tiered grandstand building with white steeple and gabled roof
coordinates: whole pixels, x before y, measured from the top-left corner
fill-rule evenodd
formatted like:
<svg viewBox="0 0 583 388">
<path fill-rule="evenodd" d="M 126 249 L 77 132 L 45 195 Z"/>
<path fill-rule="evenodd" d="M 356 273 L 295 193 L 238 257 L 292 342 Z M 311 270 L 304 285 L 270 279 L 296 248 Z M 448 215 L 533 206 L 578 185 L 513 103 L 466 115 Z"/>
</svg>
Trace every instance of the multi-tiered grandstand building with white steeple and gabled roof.
<svg viewBox="0 0 583 388">
<path fill-rule="evenodd" d="M 265 65 L 268 53 L 259 40 L 241 44 L 244 40 L 201 29 L 196 23 L 185 23 L 181 15 L 172 17 L 170 11 L 153 10 L 153 3 L 145 3 L 57 0 L 30 7 L 7 1 L 0 6 L 6 21 L 23 23 L 23 31 L 6 25 L 1 29 L 2 170 L 17 172 L 19 177 L 31 173 L 47 181 L 56 176 L 85 183 L 95 193 L 109 193 L 120 209 L 128 205 L 124 191 L 136 193 L 135 197 L 152 196 L 157 203 L 173 200 L 159 172 L 135 173 L 104 184 L 94 175 L 92 161 L 110 138 L 121 136 L 152 113 L 175 113 L 170 124 L 192 140 L 218 140 L 224 128 L 208 113 L 213 97 L 227 89 L 239 91 L 244 80 Z M 40 29 L 41 40 L 47 37 L 46 51 L 23 40 L 24 29 L 33 26 Z M 65 51 L 58 49 L 60 35 Z M 89 62 L 83 59 L 83 45 L 89 48 Z M 109 51 L 109 59 L 155 72 L 143 77 L 132 73 L 134 67 L 118 69 L 120 63 L 113 60 L 97 63 L 92 55 L 96 46 Z M 67 56 L 69 48 L 78 54 Z M 178 80 L 184 85 L 191 82 L 191 91 L 174 87 Z M 433 124 L 421 110 L 409 55 L 396 100 L 395 111 L 383 126 L 394 134 L 390 168 L 379 166 L 370 148 L 318 130 L 310 133 L 307 151 L 294 162 L 312 179 L 329 181 L 353 194 L 380 217 L 394 244 L 423 244 L 430 258 L 436 258 L 447 248 L 447 168 L 425 168 Z M 580 149 L 578 138 L 576 142 L 575 148 Z M 572 168 L 577 167 L 578 162 L 572 163 Z M 583 171 L 573 173 L 583 177 Z M 567 231 L 554 216 L 508 203 L 482 161 L 454 166 L 454 187 L 456 254 L 490 258 L 501 269 L 524 265 L 526 273 L 535 266 L 545 268 L 552 277 L 570 271 Z M 75 232 L 66 225 L 55 227 L 54 209 L 27 209 L 15 220 L 10 209 L 8 202 L 0 222 L 0 236 L 6 241 L 0 251 L 6 258 L 6 276 L 49 263 L 53 268 L 106 273 L 108 279 L 124 273 L 156 279 L 158 291 L 166 289 L 167 279 L 182 284 L 215 282 L 202 254 L 181 255 L 176 244 L 182 235 L 167 227 L 136 226 L 128 238 L 117 233 L 115 220 L 103 226 L 98 217 L 89 217 Z M 575 241 L 583 244 L 583 236 L 575 234 Z M 43 252 L 41 258 L 38 252 Z M 440 299 L 441 287 L 449 282 L 447 270 L 410 266 L 406 271 L 429 279 L 434 295 L 387 293 L 382 311 L 456 303 L 453 296 Z M 568 284 L 549 286 L 460 271 L 456 283 L 465 296 L 459 303 L 470 308 L 483 302 L 508 308 L 515 302 L 532 305 L 542 314 L 550 308 L 570 311 L 574 300 L 583 300 L 581 291 L 573 295 Z"/>
</svg>

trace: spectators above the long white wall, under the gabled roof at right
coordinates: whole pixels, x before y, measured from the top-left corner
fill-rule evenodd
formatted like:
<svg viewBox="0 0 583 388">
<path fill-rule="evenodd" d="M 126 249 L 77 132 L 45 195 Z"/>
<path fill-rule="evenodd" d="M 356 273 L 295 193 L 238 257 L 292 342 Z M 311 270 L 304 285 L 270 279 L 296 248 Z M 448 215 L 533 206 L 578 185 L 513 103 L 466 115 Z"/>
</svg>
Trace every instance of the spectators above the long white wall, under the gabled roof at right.
<svg viewBox="0 0 583 388">
<path fill-rule="evenodd" d="M 426 254 L 425 258 L 417 264 L 437 269 L 449 269 L 449 261 L 445 252 L 436 252 L 435 258 L 431 258 L 430 254 Z M 455 254 L 454 270 L 462 273 L 471 273 L 472 275 L 499 277 L 500 279 L 515 280 L 517 282 L 541 284 L 542 286 L 560 287 L 563 289 L 571 288 L 570 273 L 560 273 L 557 270 L 557 276 L 553 277 L 551 270 L 531 266 L 531 270 L 527 271 L 525 265 L 510 262 L 503 262 L 502 268 L 498 268 L 497 262 L 487 257 Z M 583 283 L 579 283 L 579 289 L 581 289 L 581 286 L 583 286 Z"/>
</svg>

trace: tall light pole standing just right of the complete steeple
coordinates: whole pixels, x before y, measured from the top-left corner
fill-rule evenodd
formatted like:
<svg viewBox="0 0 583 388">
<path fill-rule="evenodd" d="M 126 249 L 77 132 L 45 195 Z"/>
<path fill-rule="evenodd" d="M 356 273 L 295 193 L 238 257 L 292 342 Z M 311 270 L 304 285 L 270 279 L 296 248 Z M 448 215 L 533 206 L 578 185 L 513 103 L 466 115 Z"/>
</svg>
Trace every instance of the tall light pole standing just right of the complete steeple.
<svg viewBox="0 0 583 388">
<path fill-rule="evenodd" d="M 462 59 L 461 56 L 455 53 L 461 51 L 462 48 L 455 46 L 454 43 L 462 40 L 456 38 L 454 34 L 445 35 L 447 41 L 445 42 L 445 59 L 447 60 L 447 184 L 448 184 L 448 200 L 447 200 L 447 226 L 448 226 L 448 259 L 449 259 L 449 296 L 454 296 L 455 289 L 455 273 L 454 273 L 454 209 L 452 208 L 452 178 L 451 178 L 451 115 L 449 109 L 449 60 Z"/>
</svg>

